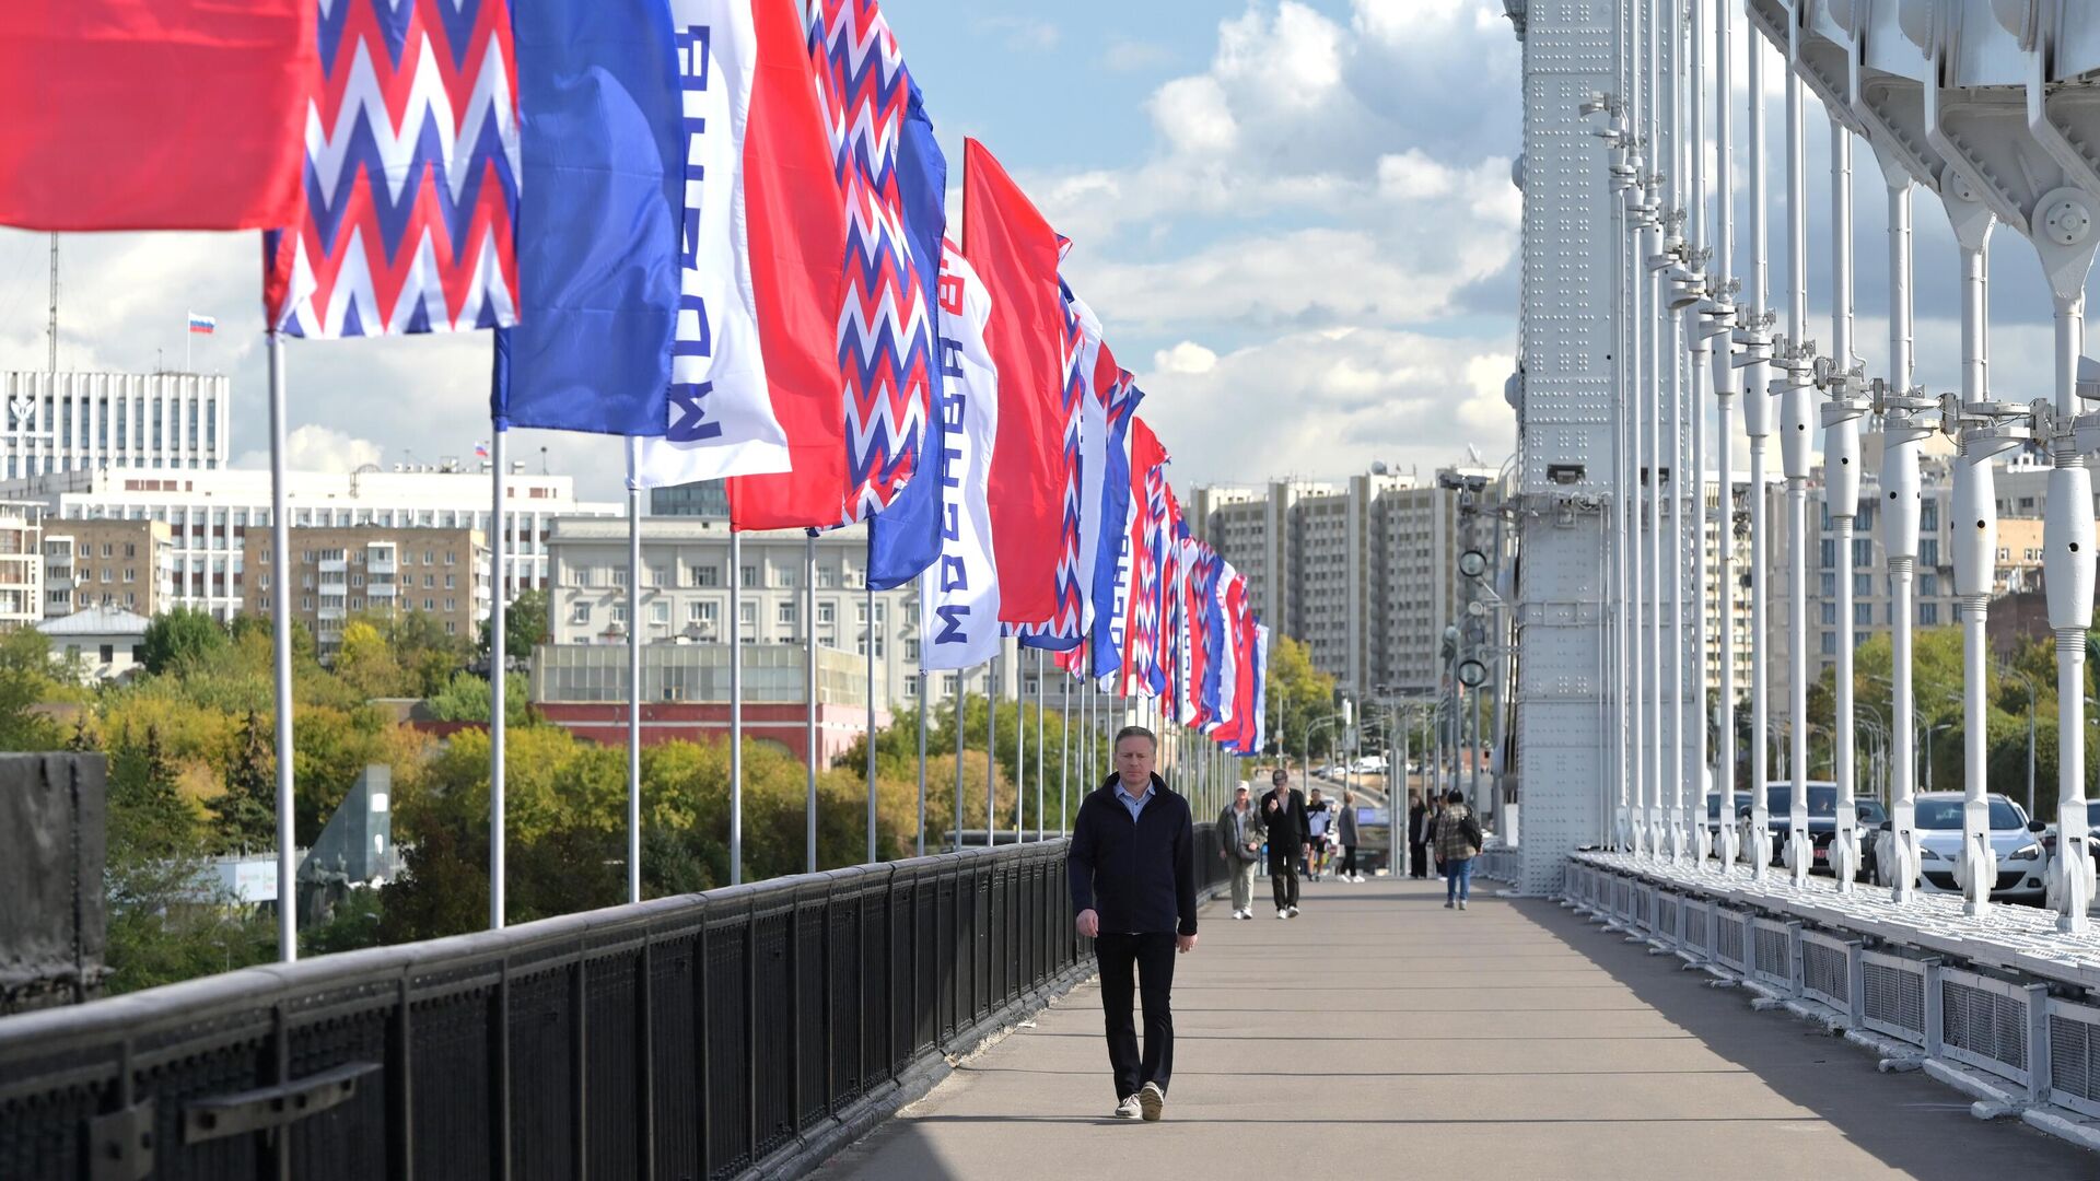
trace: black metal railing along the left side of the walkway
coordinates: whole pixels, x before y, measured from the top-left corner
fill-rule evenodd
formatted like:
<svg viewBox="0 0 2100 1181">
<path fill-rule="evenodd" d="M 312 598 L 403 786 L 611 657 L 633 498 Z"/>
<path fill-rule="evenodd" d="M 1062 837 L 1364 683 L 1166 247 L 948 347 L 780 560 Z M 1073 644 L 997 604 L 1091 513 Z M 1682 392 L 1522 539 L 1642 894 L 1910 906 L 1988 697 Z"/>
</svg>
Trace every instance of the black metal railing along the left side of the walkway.
<svg viewBox="0 0 2100 1181">
<path fill-rule="evenodd" d="M 0 1021 L 0 1177 L 792 1175 L 1084 979 L 1082 944 L 1050 841 L 32 1013 Z"/>
</svg>

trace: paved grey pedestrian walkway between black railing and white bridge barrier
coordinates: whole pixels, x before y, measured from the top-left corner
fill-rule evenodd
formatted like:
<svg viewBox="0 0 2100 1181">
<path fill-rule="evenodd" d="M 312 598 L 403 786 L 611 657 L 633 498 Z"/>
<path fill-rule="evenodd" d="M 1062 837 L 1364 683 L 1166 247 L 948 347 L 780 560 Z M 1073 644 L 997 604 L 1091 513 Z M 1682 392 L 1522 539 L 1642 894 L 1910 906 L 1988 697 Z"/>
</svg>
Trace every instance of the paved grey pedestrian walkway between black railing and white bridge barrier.
<svg viewBox="0 0 2100 1181">
<path fill-rule="evenodd" d="M 1086 986 L 821 1177 L 2100 1179 L 1548 902 L 1323 883 L 1300 918 L 1256 916 L 1208 904 L 1178 960 L 1163 1122 L 1105 1118 Z"/>
</svg>

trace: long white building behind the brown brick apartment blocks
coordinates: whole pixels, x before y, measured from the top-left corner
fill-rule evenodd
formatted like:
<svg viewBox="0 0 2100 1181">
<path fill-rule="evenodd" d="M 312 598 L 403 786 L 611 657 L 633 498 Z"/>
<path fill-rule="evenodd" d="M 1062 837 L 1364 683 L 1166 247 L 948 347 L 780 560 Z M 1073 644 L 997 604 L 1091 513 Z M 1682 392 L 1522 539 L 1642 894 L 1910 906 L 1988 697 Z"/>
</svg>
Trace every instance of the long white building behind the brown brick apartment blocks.
<svg viewBox="0 0 2100 1181">
<path fill-rule="evenodd" d="M 223 439 L 225 435 L 220 435 Z M 218 618 L 242 609 L 244 540 L 265 530 L 269 473 L 233 469 L 61 471 L 0 483 L 0 496 L 38 502 L 57 521 L 166 521 L 172 595 L 166 607 L 200 607 Z M 508 479 L 504 597 L 546 586 L 554 517 L 620 517 L 617 502 L 575 498 L 567 475 Z M 292 527 L 489 530 L 489 477 L 477 471 L 288 471 Z"/>
</svg>

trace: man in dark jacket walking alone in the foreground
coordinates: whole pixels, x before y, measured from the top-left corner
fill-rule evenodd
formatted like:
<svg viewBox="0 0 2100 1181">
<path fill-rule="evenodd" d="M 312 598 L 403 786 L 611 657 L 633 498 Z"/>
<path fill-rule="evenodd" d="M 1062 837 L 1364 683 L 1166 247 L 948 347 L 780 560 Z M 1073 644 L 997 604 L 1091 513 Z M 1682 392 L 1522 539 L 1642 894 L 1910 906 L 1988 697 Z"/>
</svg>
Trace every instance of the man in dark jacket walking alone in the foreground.
<svg viewBox="0 0 2100 1181">
<path fill-rule="evenodd" d="M 1157 1120 L 1166 1107 L 1174 952 L 1195 950 L 1195 824 L 1189 801 L 1153 773 L 1157 754 L 1159 740 L 1140 725 L 1115 735 L 1115 775 L 1079 803 L 1067 855 L 1075 923 L 1100 965 L 1117 1120 Z M 1142 1055 L 1132 992 L 1142 994 Z"/>
</svg>

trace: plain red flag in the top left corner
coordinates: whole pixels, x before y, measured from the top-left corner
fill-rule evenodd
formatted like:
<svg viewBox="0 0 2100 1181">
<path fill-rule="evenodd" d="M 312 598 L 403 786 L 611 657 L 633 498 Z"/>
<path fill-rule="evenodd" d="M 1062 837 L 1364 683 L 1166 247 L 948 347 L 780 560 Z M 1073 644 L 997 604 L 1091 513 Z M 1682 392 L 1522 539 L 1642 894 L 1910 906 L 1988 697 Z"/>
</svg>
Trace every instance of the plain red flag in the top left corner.
<svg viewBox="0 0 2100 1181">
<path fill-rule="evenodd" d="M 0 2 L 0 225 L 292 225 L 317 84 L 313 0 Z"/>
</svg>

